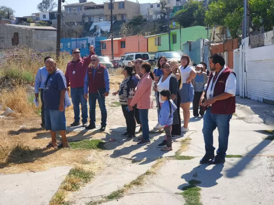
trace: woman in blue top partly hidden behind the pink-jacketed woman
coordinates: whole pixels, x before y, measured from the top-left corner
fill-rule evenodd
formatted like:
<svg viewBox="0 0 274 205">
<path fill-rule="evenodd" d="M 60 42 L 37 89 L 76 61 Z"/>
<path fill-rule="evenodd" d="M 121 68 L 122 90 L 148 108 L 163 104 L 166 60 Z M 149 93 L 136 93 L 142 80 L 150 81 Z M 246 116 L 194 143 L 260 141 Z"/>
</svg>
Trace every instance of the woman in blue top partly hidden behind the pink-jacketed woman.
<svg viewBox="0 0 274 205">
<path fill-rule="evenodd" d="M 154 86 L 157 87 L 157 83 L 159 80 L 159 77 L 164 73 L 162 70 L 162 65 L 167 62 L 167 59 L 165 56 L 160 56 L 160 58 L 157 61 L 157 68 L 154 69 Z M 155 91 L 155 90 L 154 90 Z M 153 128 L 153 129 L 160 129 L 161 125 L 159 123 L 159 114 L 160 114 L 160 109 L 159 109 L 159 99 L 158 99 L 158 92 L 157 90 L 155 91 L 155 98 L 156 98 L 156 105 L 157 105 L 157 114 L 158 114 L 158 124 Z"/>
</svg>

